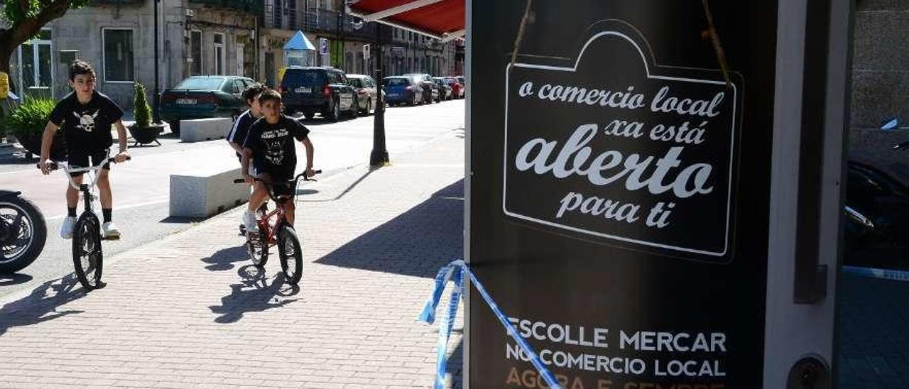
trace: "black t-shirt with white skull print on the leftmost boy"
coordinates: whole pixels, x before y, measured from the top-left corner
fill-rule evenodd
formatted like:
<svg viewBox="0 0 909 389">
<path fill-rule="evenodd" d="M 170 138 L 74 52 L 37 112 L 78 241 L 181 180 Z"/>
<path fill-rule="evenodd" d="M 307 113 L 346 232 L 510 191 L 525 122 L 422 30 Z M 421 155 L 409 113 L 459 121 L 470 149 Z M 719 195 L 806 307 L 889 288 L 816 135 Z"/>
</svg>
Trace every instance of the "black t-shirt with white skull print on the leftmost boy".
<svg viewBox="0 0 909 389">
<path fill-rule="evenodd" d="M 79 103 L 74 93 L 54 107 L 50 121 L 63 128 L 68 155 L 87 155 L 114 144 L 111 125 L 123 117 L 123 110 L 110 97 L 95 91 L 88 104 Z"/>
</svg>

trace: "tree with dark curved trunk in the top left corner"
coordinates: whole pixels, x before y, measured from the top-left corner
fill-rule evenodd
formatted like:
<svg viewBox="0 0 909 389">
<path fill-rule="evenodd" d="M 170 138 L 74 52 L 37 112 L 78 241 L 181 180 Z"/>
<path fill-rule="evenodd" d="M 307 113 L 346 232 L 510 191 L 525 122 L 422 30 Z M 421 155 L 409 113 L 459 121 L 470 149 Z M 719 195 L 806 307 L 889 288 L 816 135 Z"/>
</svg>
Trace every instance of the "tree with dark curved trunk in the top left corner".
<svg viewBox="0 0 909 389">
<path fill-rule="evenodd" d="M 9 74 L 9 59 L 15 48 L 41 32 L 41 27 L 63 16 L 70 9 L 87 5 L 89 0 L 0 0 L 3 28 L 0 28 L 0 72 Z M 12 79 L 10 86 L 12 89 Z"/>
</svg>

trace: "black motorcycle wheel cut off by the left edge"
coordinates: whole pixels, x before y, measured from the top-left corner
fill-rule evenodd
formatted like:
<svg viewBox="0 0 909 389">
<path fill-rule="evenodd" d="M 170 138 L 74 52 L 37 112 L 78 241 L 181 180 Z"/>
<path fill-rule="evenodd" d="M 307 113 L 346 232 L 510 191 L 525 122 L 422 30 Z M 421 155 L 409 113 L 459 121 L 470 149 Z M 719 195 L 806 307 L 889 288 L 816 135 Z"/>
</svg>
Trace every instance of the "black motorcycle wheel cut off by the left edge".
<svg viewBox="0 0 909 389">
<path fill-rule="evenodd" d="M 38 207 L 19 192 L 0 190 L 0 274 L 18 272 L 45 248 L 47 225 Z"/>
</svg>

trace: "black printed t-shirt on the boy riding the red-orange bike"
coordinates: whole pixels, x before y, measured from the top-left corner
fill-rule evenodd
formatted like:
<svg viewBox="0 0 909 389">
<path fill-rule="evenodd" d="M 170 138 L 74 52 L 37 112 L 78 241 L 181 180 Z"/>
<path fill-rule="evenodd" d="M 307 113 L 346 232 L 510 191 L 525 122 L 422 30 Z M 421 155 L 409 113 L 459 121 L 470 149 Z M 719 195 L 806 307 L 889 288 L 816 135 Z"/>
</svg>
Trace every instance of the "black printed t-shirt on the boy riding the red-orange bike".
<svg viewBox="0 0 909 389">
<path fill-rule="evenodd" d="M 281 115 L 278 123 L 261 118 L 249 129 L 244 147 L 253 150 L 253 163 L 259 173 L 272 175 L 275 181 L 294 178 L 296 149 L 294 138 L 303 141 L 309 129 L 293 117 Z"/>
</svg>

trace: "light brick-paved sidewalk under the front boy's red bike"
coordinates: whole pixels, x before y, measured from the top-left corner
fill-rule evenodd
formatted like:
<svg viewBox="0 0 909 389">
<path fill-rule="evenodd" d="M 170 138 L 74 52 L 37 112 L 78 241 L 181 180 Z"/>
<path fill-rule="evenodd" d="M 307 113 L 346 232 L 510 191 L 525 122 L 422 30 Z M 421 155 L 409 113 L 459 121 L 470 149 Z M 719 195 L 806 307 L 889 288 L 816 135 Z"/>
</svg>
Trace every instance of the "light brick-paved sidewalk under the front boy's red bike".
<svg viewBox="0 0 909 389">
<path fill-rule="evenodd" d="M 302 187 L 298 289 L 274 250 L 250 265 L 237 209 L 108 258 L 105 289 L 66 276 L 0 300 L 0 387 L 430 387 L 437 326 L 416 315 L 462 254 L 462 136 Z"/>
</svg>

